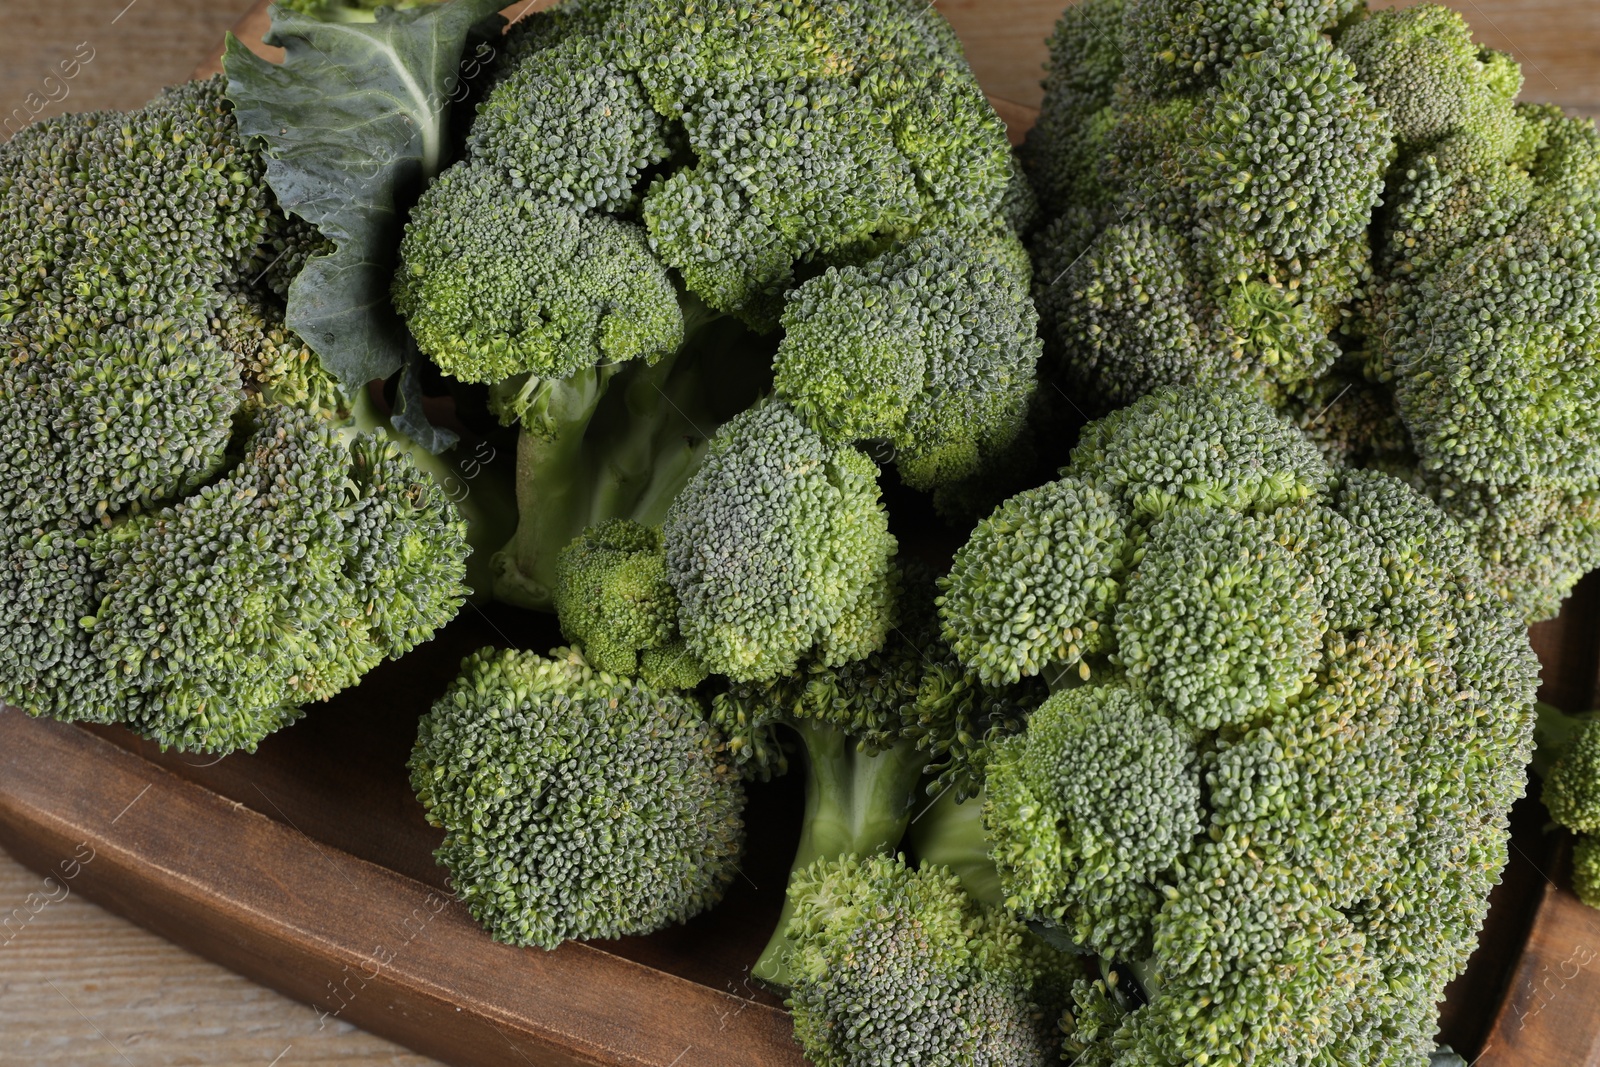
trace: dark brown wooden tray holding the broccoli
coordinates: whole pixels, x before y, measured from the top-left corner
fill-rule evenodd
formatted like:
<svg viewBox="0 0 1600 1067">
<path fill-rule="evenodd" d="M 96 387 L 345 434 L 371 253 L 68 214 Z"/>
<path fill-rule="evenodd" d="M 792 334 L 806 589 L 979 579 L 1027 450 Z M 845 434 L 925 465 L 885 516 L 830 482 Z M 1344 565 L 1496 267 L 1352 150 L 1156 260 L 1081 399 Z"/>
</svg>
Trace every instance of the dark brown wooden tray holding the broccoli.
<svg viewBox="0 0 1600 1067">
<path fill-rule="evenodd" d="M 1037 62 L 1059 6 L 941 3 L 1013 134 L 1032 120 Z M 1469 2 L 1469 16 L 1485 21 L 1477 6 Z M 1587 0 L 1538 6 L 1590 18 Z M 259 42 L 264 8 L 240 24 L 243 40 Z M 1600 26 L 1592 29 L 1576 43 L 1550 34 L 1534 54 L 1547 66 L 1600 56 Z M 1560 99 L 1592 106 L 1600 77 L 1586 85 L 1568 82 Z M 490 941 L 450 897 L 432 861 L 440 833 L 422 821 L 403 768 L 416 717 L 464 653 L 554 643 L 549 619 L 467 609 L 405 664 L 310 709 L 254 755 L 219 761 L 160 753 L 115 728 L 0 710 L 0 845 L 318 1013 L 451 1064 L 798 1067 L 787 1016 L 747 981 L 782 896 L 797 779 L 752 798 L 749 824 L 758 829 L 746 878 L 683 928 L 518 950 Z M 1579 587 L 1560 619 L 1534 627 L 1534 645 L 1546 699 L 1594 705 L 1600 577 Z M 1443 1038 L 1482 1067 L 1600 1062 L 1600 912 L 1560 888 L 1563 835 L 1546 833 L 1544 819 L 1533 800 L 1515 808 L 1490 923 L 1446 998 Z"/>
</svg>

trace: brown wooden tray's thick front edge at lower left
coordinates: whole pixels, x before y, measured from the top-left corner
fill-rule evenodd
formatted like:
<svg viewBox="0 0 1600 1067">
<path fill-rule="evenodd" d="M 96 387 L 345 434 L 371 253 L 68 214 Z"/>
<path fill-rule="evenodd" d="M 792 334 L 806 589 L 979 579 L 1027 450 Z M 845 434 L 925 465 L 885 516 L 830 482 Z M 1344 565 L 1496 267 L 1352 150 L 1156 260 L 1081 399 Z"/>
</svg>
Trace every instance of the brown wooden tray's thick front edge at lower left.
<svg viewBox="0 0 1600 1067">
<path fill-rule="evenodd" d="M 64 792 L 61 766 L 94 774 Z M 592 945 L 496 945 L 448 893 L 77 726 L 0 712 L 0 827 L 74 891 L 451 1064 L 802 1064 L 776 1008 Z"/>
</svg>

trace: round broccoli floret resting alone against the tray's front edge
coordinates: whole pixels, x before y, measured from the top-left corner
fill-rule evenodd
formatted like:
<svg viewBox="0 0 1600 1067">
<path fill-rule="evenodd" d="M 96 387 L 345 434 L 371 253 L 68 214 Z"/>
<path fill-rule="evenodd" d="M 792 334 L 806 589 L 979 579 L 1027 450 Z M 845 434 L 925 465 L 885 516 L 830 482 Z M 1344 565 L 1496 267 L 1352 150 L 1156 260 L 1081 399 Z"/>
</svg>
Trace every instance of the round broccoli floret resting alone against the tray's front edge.
<svg viewBox="0 0 1600 1067">
<path fill-rule="evenodd" d="M 482 649 L 418 726 L 411 787 L 496 941 L 648 934 L 722 899 L 744 787 L 704 707 L 590 667 Z"/>
</svg>

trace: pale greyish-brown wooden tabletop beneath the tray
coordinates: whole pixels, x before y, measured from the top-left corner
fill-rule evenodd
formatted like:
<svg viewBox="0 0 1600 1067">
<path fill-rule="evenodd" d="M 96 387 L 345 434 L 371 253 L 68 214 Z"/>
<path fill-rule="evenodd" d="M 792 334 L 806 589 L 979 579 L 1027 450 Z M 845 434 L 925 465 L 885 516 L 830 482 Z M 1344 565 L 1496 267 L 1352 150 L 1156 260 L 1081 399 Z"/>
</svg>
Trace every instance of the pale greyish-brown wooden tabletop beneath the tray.
<svg viewBox="0 0 1600 1067">
<path fill-rule="evenodd" d="M 0 123 L 136 107 L 179 82 L 213 51 L 246 0 L 8 0 L 0 18 Z M 990 0 L 939 0 L 995 96 L 1038 101 L 1043 54 L 1034 27 L 1061 0 L 1024 0 L 1037 19 L 1002 22 Z M 1378 3 L 1374 6 L 1395 6 Z M 1600 3 L 1454 0 L 1478 40 L 1522 61 L 1530 99 L 1600 115 Z M 85 61 L 85 56 L 88 59 Z M 70 80 L 62 61 L 77 59 Z M 14 126 L 13 126 L 14 128 Z M 0 134 L 3 136 L 3 134 Z M 70 787 L 64 777 L 64 787 Z M 309 1062 L 434 1061 L 330 1021 L 74 897 L 0 853 L 0 910 L 43 904 L 0 945 L 0 1067 L 48 1064 L 205 1064 L 293 1067 Z"/>
</svg>

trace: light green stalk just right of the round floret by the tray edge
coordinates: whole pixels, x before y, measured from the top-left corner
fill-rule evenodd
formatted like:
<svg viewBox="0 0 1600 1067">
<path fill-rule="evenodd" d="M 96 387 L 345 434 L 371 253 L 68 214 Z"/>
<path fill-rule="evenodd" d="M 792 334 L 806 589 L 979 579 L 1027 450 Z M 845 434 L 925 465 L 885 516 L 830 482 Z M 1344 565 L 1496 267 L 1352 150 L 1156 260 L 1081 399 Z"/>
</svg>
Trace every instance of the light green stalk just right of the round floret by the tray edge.
<svg viewBox="0 0 1600 1067">
<path fill-rule="evenodd" d="M 910 821 L 926 753 L 902 741 L 869 755 L 837 726 L 814 721 L 790 726 L 800 734 L 806 757 L 805 817 L 790 885 L 819 859 L 870 856 L 898 846 Z M 792 918 L 794 901 L 786 896 L 773 937 L 750 968 L 750 974 L 778 989 L 794 984 L 789 969 Z"/>
</svg>

